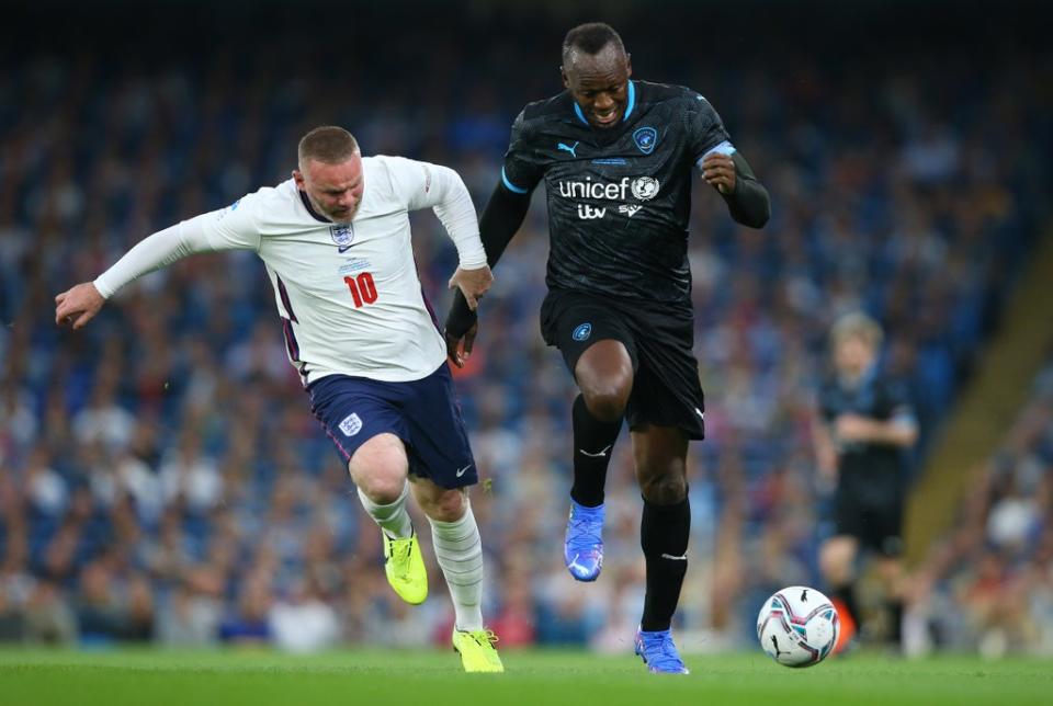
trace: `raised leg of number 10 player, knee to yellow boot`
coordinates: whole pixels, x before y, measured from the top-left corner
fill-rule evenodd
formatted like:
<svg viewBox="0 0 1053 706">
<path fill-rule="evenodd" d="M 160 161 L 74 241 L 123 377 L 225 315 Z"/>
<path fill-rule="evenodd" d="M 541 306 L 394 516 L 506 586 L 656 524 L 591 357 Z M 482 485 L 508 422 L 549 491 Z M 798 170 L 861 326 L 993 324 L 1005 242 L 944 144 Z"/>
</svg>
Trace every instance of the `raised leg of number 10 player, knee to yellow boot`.
<svg viewBox="0 0 1053 706">
<path fill-rule="evenodd" d="M 362 506 L 381 527 L 388 583 L 407 603 L 423 603 L 428 572 L 406 510 L 409 459 L 403 441 L 395 434 L 377 434 L 354 452 L 348 470 Z"/>
</svg>

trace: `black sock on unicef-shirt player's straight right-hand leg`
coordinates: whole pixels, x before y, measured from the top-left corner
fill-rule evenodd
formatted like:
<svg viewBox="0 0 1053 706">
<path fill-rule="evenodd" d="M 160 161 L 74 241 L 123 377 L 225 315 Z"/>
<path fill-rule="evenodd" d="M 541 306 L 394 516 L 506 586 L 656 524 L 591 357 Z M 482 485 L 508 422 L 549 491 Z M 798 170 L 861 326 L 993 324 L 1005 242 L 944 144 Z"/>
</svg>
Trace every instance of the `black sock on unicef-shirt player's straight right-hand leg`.
<svg viewBox="0 0 1053 706">
<path fill-rule="evenodd" d="M 675 505 L 659 505 L 644 499 L 639 545 L 647 560 L 647 593 L 641 629 L 668 630 L 680 602 L 680 587 L 688 572 L 688 537 L 691 505 L 684 498 Z"/>
</svg>

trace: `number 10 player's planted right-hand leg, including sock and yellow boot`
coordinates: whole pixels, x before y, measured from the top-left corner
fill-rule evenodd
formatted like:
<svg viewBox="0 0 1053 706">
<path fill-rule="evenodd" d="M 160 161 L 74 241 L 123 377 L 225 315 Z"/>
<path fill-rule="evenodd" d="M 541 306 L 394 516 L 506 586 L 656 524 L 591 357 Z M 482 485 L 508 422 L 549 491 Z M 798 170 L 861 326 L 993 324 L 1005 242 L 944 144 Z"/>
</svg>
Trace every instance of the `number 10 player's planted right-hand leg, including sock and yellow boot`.
<svg viewBox="0 0 1053 706">
<path fill-rule="evenodd" d="M 496 637 L 483 625 L 483 542 L 464 488 L 412 479 L 414 497 L 431 524 L 435 559 L 446 579 L 456 620 L 453 647 L 466 672 L 502 672 Z"/>
</svg>

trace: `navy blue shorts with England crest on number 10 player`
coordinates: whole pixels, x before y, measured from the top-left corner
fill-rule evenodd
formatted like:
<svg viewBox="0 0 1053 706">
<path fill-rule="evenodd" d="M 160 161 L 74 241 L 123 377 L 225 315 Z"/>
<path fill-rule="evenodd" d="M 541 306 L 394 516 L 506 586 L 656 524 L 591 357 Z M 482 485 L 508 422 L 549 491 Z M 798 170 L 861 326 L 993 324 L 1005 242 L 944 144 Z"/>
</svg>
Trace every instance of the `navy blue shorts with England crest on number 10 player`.
<svg viewBox="0 0 1053 706">
<path fill-rule="evenodd" d="M 408 383 L 327 375 L 307 387 L 310 411 L 337 447 L 344 465 L 359 446 L 390 433 L 406 444 L 409 472 L 443 488 L 479 481 L 445 363 Z"/>
</svg>

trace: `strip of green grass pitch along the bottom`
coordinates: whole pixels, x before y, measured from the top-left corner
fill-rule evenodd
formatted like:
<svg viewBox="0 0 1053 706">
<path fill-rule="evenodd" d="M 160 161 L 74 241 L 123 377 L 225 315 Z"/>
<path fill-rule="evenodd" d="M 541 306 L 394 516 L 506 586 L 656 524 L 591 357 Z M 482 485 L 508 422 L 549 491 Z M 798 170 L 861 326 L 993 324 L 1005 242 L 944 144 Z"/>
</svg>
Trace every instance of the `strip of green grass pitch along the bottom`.
<svg viewBox="0 0 1053 706">
<path fill-rule="evenodd" d="M 1053 661 L 874 654 L 791 670 L 756 653 L 690 656 L 690 676 L 648 674 L 631 657 L 574 651 L 502 653 L 505 674 L 460 672 L 453 652 L 0 650 L 4 706 L 163 704 L 675 704 L 1053 703 Z"/>
</svg>

